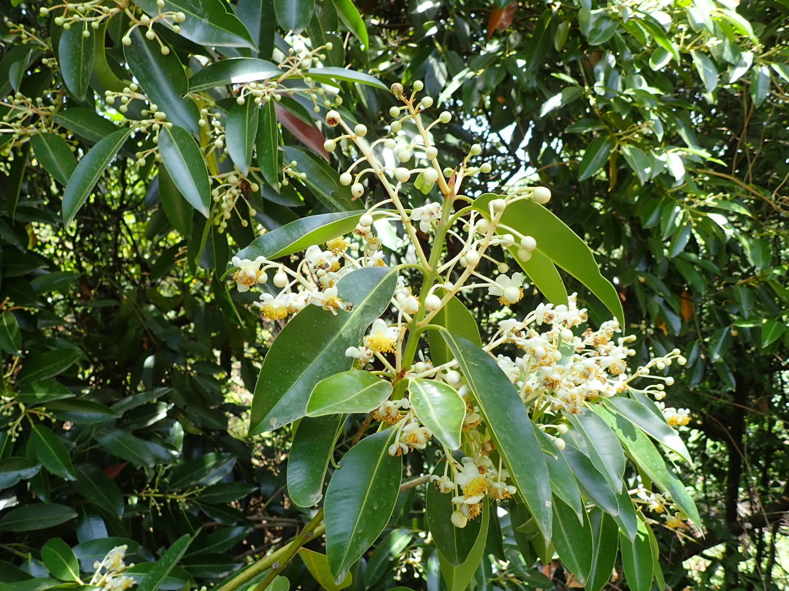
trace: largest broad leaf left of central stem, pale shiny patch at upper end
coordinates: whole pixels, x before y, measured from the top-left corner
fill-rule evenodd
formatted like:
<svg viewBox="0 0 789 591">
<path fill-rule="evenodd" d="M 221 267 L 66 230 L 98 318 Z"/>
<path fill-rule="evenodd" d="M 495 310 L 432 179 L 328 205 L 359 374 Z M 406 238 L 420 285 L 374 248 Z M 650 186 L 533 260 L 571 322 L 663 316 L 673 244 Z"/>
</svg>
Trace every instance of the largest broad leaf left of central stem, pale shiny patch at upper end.
<svg viewBox="0 0 789 591">
<path fill-rule="evenodd" d="M 349 347 L 387 308 L 397 272 L 388 267 L 356 269 L 337 283 L 338 297 L 353 303 L 332 314 L 317 306 L 301 310 L 271 344 L 252 398 L 249 433 L 271 431 L 305 415 L 307 401 L 323 377 L 349 370 Z"/>
</svg>

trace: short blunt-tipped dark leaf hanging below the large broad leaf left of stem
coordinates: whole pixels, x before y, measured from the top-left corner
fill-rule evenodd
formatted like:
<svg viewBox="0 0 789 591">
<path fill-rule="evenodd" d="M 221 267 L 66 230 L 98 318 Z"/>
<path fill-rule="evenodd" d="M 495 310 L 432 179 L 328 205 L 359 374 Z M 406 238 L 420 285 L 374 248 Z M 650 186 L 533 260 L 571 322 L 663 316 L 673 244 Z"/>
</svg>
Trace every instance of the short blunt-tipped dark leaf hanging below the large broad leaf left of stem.
<svg viewBox="0 0 789 591">
<path fill-rule="evenodd" d="M 297 507 L 312 507 L 323 496 L 323 478 L 346 417 L 328 414 L 299 421 L 288 454 L 288 496 Z"/>
</svg>

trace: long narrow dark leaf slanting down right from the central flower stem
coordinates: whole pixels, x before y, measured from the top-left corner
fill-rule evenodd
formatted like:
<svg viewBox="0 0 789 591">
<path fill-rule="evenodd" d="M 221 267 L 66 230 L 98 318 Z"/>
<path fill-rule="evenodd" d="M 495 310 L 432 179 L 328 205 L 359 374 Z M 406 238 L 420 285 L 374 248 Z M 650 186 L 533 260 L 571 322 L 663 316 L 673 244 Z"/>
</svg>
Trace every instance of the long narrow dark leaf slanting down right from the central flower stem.
<svg viewBox="0 0 789 591">
<path fill-rule="evenodd" d="M 523 400 L 492 355 L 462 336 L 443 329 L 441 334 L 458 360 L 459 369 L 469 383 L 513 484 L 537 519 L 540 531 L 550 539 L 552 514 L 548 466 Z"/>
</svg>

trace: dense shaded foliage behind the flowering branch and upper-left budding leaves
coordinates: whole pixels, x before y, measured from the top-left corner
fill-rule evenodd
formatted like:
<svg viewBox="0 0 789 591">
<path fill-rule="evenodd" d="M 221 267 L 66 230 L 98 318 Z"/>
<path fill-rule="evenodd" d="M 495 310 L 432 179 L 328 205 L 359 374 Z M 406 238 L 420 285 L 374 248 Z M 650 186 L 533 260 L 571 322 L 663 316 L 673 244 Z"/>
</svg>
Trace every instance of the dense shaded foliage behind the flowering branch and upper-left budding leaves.
<svg viewBox="0 0 789 591">
<path fill-rule="evenodd" d="M 151 65 L 124 54 L 118 17 L 94 34 L 105 46 L 94 47 L 93 67 L 82 72 L 73 60 L 90 48 L 78 48 L 79 37 L 64 39 L 51 15 L 37 16 L 53 2 L 11 4 L 0 7 L 0 95 L 40 97 L 55 114 L 46 123 L 31 117 L 17 135 L 0 126 L 3 394 L 24 403 L 31 418 L 22 419 L 16 439 L 18 411 L 0 424 L 0 589 L 47 588 L 28 581 L 48 578 L 46 569 L 54 574 L 41 552 L 51 537 L 73 548 L 83 571 L 127 543 L 144 574 L 164 548 L 194 535 L 161 588 L 219 582 L 308 520 L 286 497 L 287 433 L 244 437 L 249 392 L 280 326 L 261 324 L 250 299 L 228 292 L 220 277 L 230 254 L 256 234 L 235 216 L 227 232 L 204 233 L 199 211 L 174 208 L 183 204 L 163 168 L 133 158 L 146 141 L 140 134 L 131 143 L 115 136 L 118 158 L 92 197 L 65 212 L 74 222 L 64 225 L 73 158 L 39 132 L 46 125 L 65 136 L 69 154 L 74 148 L 84 158 L 123 118 L 103 101 L 107 80 L 134 75 L 142 84 Z M 146 11 L 147 4 L 155 3 L 136 2 Z M 689 359 L 667 400 L 694 415 L 687 433 L 697 469 L 683 481 L 692 485 L 705 537 L 686 530 L 692 539 L 682 545 L 671 532 L 659 536 L 666 582 L 678 589 L 787 584 L 780 556 L 789 510 L 786 2 L 170 4 L 198 6 L 215 21 L 234 10 L 248 30 L 233 34 L 254 41 L 225 46 L 210 35 L 157 29 L 172 47 L 171 59 L 157 64 L 176 95 L 200 69 L 195 56 L 268 59 L 275 47 L 286 50 L 288 31 L 303 29 L 308 45 L 335 45 L 330 65 L 369 72 L 383 87 L 424 80 L 454 113 L 446 131 L 436 128 L 447 162 L 483 136 L 493 171 L 469 194 L 524 179 L 551 188 L 549 208 L 614 280 L 644 357 L 678 347 Z M 19 24 L 36 28 L 48 49 L 20 43 Z M 53 52 L 57 71 L 42 61 Z M 383 131 L 391 95 L 338 84 L 343 115 Z M 232 108 L 226 85 L 211 92 Z M 188 126 L 194 103 L 178 104 Z M 282 106 L 286 161 L 297 159 L 310 175 L 279 193 L 261 180 L 260 194 L 250 195 L 254 221 L 272 230 L 357 207 L 317 155 L 322 115 L 308 102 Z M 316 127 L 305 136 L 312 119 Z M 331 169 L 350 158 L 335 152 Z M 189 199 L 185 185 L 177 187 Z M 424 196 L 411 199 L 417 205 Z M 569 279 L 567 286 L 593 321 L 608 318 L 582 285 Z M 542 299 L 531 294 L 523 310 Z M 492 311 L 484 302 L 466 305 L 477 318 Z M 357 425 L 343 429 L 338 457 Z M 423 472 L 413 455 L 408 463 L 406 474 Z M 423 494 L 401 493 L 391 527 L 354 567 L 351 589 L 391 588 L 400 578 L 439 588 L 436 553 L 416 535 Z M 506 520 L 499 526 L 507 544 L 488 550 L 502 552 L 510 567 L 501 571 L 486 558 L 474 588 L 545 588 L 528 558 L 512 553 L 528 554 L 529 541 Z M 696 562 L 683 562 L 690 558 Z M 293 587 L 316 585 L 303 562 L 285 574 Z"/>
</svg>

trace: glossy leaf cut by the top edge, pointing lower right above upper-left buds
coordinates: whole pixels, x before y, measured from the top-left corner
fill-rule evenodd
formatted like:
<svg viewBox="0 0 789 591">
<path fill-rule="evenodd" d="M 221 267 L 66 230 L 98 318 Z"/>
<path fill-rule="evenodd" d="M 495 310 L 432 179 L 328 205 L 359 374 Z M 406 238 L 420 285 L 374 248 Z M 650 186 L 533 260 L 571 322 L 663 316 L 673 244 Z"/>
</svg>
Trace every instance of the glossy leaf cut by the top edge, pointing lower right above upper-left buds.
<svg viewBox="0 0 789 591">
<path fill-rule="evenodd" d="M 156 0 L 135 0 L 135 4 L 150 17 L 159 14 Z M 244 24 L 221 0 L 165 0 L 161 11 L 184 13 L 178 34 L 198 45 L 257 49 Z M 169 22 L 165 24 L 171 28 Z"/>
</svg>

